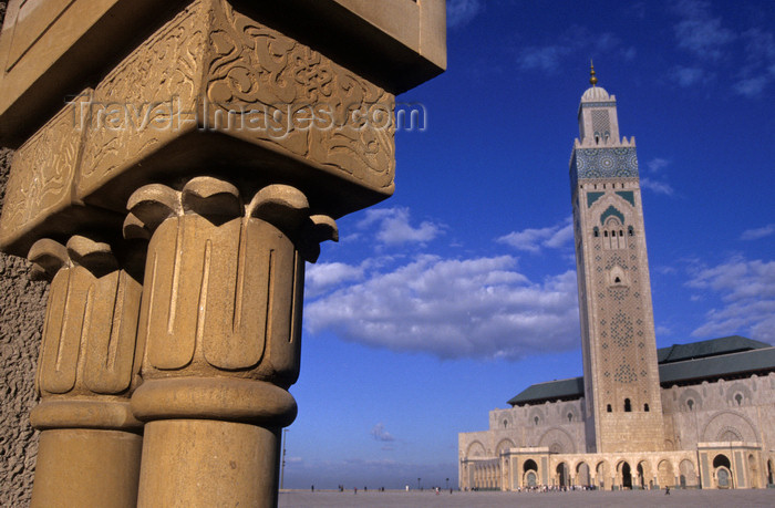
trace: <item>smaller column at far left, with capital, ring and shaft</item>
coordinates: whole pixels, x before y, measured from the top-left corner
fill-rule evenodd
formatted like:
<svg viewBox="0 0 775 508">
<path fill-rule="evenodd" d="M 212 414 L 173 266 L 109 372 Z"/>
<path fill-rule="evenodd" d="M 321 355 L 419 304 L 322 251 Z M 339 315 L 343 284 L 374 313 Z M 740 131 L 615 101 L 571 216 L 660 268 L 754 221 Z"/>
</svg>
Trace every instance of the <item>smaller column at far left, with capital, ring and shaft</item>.
<svg viewBox="0 0 775 508">
<path fill-rule="evenodd" d="M 38 240 L 35 272 L 53 280 L 38 364 L 41 432 L 32 507 L 135 506 L 142 424 L 130 409 L 137 383 L 142 287 L 106 243 Z"/>
</svg>

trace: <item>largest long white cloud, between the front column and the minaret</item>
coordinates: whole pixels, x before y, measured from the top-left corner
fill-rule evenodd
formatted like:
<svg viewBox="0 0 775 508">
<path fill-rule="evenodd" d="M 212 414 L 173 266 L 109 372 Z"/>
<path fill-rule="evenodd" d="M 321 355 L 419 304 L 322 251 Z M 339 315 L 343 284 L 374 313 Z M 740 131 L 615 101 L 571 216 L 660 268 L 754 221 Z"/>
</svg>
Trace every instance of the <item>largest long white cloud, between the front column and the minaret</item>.
<svg viewBox="0 0 775 508">
<path fill-rule="evenodd" d="M 306 328 L 395 351 L 518 359 L 579 343 L 576 273 L 533 282 L 510 256 L 420 256 L 306 305 Z"/>
</svg>

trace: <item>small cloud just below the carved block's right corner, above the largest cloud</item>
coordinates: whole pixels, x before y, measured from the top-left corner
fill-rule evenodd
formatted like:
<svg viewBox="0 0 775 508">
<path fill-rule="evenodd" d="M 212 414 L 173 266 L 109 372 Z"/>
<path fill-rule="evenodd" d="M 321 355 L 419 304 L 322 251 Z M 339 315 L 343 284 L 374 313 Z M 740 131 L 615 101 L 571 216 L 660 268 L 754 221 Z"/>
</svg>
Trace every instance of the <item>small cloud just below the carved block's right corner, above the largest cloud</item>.
<svg viewBox="0 0 775 508">
<path fill-rule="evenodd" d="M 358 222 L 359 229 L 368 229 L 375 225 L 375 237 L 385 246 L 403 243 L 425 243 L 443 232 L 443 225 L 423 221 L 418 227 L 410 224 L 409 208 L 376 208 L 369 209 L 365 218 Z"/>
</svg>

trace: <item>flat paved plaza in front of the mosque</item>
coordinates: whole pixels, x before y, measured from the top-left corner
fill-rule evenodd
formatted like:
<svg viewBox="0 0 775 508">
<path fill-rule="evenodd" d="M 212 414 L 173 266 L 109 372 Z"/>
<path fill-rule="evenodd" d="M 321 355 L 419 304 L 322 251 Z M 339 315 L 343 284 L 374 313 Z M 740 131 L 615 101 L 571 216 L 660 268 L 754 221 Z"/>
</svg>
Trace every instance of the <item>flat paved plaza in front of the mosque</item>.
<svg viewBox="0 0 775 508">
<path fill-rule="evenodd" d="M 319 507 L 379 507 L 379 508 L 498 508 L 551 506 L 574 507 L 773 507 L 775 489 L 757 490 L 664 490 L 636 491 L 568 491 L 568 493 L 441 493 L 433 491 L 368 491 L 358 494 L 352 490 L 280 493 L 280 508 L 319 508 Z"/>
</svg>

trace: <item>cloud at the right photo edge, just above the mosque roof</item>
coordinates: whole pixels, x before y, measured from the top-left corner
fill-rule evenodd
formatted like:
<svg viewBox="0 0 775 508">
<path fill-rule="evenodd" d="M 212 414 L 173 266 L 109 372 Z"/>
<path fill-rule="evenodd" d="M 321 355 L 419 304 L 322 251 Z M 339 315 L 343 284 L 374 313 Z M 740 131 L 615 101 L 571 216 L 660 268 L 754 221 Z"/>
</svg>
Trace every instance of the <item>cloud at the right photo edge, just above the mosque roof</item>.
<svg viewBox="0 0 775 508">
<path fill-rule="evenodd" d="M 735 257 L 695 271 L 688 286 L 717 294 L 723 304 L 707 311 L 693 336 L 742 333 L 775 343 L 775 261 Z"/>
</svg>

